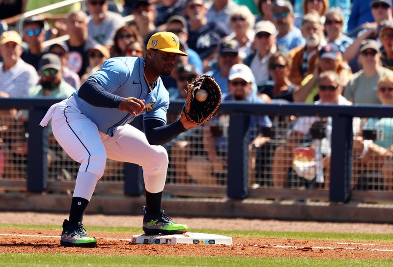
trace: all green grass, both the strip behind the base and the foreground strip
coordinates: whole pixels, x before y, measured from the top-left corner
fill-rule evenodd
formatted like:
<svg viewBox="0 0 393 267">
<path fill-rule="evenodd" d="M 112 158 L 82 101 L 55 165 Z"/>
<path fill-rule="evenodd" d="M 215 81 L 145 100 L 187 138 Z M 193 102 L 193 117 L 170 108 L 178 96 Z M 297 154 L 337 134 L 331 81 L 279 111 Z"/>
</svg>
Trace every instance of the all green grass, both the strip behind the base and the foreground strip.
<svg viewBox="0 0 393 267">
<path fill-rule="evenodd" d="M 5 229 L 54 229 L 61 231 L 59 225 L 0 224 Z M 140 227 L 91 226 L 89 231 L 108 233 L 141 233 Z M 357 242 L 392 242 L 393 234 L 343 234 L 309 232 L 265 232 L 265 231 L 224 231 L 212 229 L 190 229 L 190 232 L 214 233 L 233 238 L 284 238 L 321 239 Z M 309 258 L 258 258 L 258 257 L 184 257 L 184 256 L 124 256 L 124 255 L 68 255 L 47 254 L 1 254 L 0 267 L 101 267 L 101 266 L 173 266 L 173 267 L 391 267 L 393 260 L 349 260 L 349 259 L 309 259 Z"/>
</svg>

